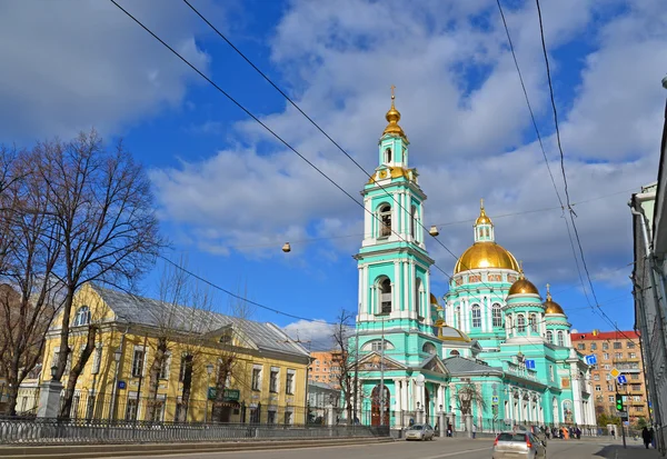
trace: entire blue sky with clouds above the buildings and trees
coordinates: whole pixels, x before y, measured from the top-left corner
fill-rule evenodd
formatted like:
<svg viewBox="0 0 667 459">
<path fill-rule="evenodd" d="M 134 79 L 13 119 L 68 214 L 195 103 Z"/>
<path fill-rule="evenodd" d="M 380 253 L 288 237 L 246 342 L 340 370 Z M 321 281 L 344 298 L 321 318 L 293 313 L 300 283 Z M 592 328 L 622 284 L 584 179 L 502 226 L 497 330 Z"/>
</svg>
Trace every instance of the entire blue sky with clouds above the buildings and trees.
<svg viewBox="0 0 667 459">
<path fill-rule="evenodd" d="M 357 201 L 355 166 L 181 0 L 119 3 Z M 496 240 L 580 331 L 610 329 L 576 266 L 539 22 L 501 0 L 555 184 L 492 0 L 213 1 L 192 4 L 364 170 L 377 167 L 390 86 L 428 196 L 424 222 L 460 255 L 484 198 Z M 599 307 L 634 327 L 627 201 L 657 178 L 667 91 L 661 0 L 542 0 L 564 167 Z M 356 311 L 364 212 L 110 1 L 0 2 L 0 142 L 96 128 L 145 164 L 170 241 L 206 280 L 300 320 L 252 318 L 312 341 Z M 571 231 L 571 229 L 570 229 Z M 292 251 L 283 253 L 289 241 Z M 431 291 L 456 257 L 435 241 Z M 158 263 L 142 280 L 156 295 Z M 586 286 L 586 288 L 584 288 Z M 233 302 L 216 295 L 225 311 Z M 316 320 L 316 321 L 312 321 Z"/>
</svg>

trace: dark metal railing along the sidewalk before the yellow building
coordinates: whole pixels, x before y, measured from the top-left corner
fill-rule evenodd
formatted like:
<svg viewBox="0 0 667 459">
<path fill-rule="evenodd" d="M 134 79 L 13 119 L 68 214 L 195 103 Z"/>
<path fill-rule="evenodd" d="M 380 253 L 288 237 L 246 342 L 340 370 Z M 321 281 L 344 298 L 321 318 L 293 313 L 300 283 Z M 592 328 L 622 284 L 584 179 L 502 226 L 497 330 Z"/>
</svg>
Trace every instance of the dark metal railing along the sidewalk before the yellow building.
<svg viewBox="0 0 667 459">
<path fill-rule="evenodd" d="M 0 418 L 0 445 L 169 443 L 388 437 L 388 427 Z"/>
</svg>

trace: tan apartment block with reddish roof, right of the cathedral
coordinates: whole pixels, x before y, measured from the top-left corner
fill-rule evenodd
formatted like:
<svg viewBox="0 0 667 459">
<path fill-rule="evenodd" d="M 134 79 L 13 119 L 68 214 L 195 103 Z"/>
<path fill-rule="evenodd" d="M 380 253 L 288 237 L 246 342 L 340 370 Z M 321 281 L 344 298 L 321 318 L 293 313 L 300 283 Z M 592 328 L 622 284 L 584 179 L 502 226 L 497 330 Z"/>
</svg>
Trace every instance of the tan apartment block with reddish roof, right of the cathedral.
<svg viewBox="0 0 667 459">
<path fill-rule="evenodd" d="M 644 366 L 639 335 L 635 331 L 573 332 L 573 346 L 586 355 L 595 355 L 597 365 L 591 368 L 596 413 L 616 415 L 616 393 L 624 396 L 630 423 L 638 418 L 648 419 L 648 399 L 645 386 Z M 618 385 L 613 376 L 616 369 L 627 379 L 627 385 Z"/>
</svg>

